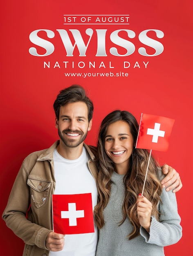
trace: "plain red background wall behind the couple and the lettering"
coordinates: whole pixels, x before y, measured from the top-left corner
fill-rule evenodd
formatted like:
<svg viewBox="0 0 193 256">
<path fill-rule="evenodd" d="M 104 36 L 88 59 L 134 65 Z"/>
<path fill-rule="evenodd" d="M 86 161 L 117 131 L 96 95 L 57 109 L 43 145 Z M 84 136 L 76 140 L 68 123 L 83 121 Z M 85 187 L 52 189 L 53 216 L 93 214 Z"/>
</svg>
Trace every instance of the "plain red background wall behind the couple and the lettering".
<svg viewBox="0 0 193 256">
<path fill-rule="evenodd" d="M 142 0 L 98 0 L 90 1 L 11 1 L 1 2 L 1 170 L 0 170 L 0 213 L 7 204 L 13 181 L 22 160 L 31 152 L 49 147 L 58 139 L 52 108 L 59 90 L 78 83 L 90 95 L 94 103 L 93 127 L 86 143 L 96 145 L 98 128 L 105 115 L 115 109 L 130 111 L 139 121 L 141 112 L 162 115 L 175 119 L 167 152 L 153 151 L 160 164 L 168 163 L 179 173 L 183 188 L 176 194 L 182 218 L 183 237 L 179 243 L 165 248 L 166 256 L 193 254 L 192 249 L 192 19 L 191 1 L 142 1 Z M 130 15 L 129 25 L 63 25 L 64 14 L 125 14 Z M 87 42 L 85 29 L 92 28 L 94 34 L 87 56 L 80 57 L 77 48 L 74 56 L 67 57 L 65 48 L 56 29 L 79 29 Z M 50 29 L 55 37 L 47 39 L 55 46 L 54 53 L 47 57 L 29 54 L 36 47 L 29 34 L 36 29 Z M 95 29 L 107 29 L 106 52 L 108 56 L 96 57 Z M 116 29 L 131 29 L 135 38 L 128 39 L 136 47 L 133 54 L 117 57 L 110 54 L 110 34 Z M 159 29 L 164 38 L 152 38 L 164 45 L 159 56 L 146 57 L 138 53 L 138 35 L 145 29 Z M 70 32 L 69 32 L 70 34 Z M 46 36 L 43 35 L 45 38 Z M 123 37 L 126 38 L 124 34 Z M 121 47 L 117 47 L 124 54 Z M 37 47 L 39 53 L 42 52 Z M 153 49 L 146 47 L 149 54 Z M 50 68 L 44 68 L 50 61 Z M 61 68 L 55 67 L 58 61 Z M 84 69 L 64 68 L 63 61 L 85 62 Z M 89 69 L 88 62 L 96 61 L 98 67 Z M 106 68 L 99 69 L 104 62 Z M 111 61 L 114 69 L 109 67 Z M 123 69 L 123 61 L 130 68 Z M 134 65 L 136 61 L 139 67 Z M 148 62 L 144 68 L 144 62 Z M 97 66 L 97 65 L 96 65 Z M 128 77 L 65 77 L 65 72 L 128 72 Z M 0 255 L 19 256 L 24 243 L 0 220 Z"/>
</svg>

